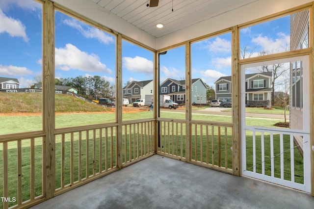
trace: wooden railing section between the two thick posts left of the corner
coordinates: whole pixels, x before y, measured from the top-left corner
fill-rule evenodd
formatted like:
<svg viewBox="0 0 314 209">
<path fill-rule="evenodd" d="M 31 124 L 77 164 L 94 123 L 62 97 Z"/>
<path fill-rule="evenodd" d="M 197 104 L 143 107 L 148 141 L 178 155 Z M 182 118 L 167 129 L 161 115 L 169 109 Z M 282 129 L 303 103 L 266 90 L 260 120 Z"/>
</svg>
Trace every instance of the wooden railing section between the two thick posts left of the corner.
<svg viewBox="0 0 314 209">
<path fill-rule="evenodd" d="M 56 195 L 118 170 L 117 124 L 55 131 Z"/>
</svg>

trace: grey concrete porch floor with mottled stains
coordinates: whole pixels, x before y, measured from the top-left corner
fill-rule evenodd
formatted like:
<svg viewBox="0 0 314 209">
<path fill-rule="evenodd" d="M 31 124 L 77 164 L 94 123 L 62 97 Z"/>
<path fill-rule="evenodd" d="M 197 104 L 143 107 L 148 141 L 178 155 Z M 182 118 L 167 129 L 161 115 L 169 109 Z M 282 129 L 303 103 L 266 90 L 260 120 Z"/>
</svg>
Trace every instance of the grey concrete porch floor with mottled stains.
<svg viewBox="0 0 314 209">
<path fill-rule="evenodd" d="M 310 194 L 154 155 L 33 209 L 314 209 Z"/>
</svg>

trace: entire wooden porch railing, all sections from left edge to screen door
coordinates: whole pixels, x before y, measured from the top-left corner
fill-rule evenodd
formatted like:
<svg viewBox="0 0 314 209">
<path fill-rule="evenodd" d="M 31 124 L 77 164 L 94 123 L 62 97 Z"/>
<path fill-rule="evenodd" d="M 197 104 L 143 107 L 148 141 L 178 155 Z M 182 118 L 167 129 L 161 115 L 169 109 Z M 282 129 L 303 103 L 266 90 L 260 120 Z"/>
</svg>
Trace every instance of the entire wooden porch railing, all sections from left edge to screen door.
<svg viewBox="0 0 314 209">
<path fill-rule="evenodd" d="M 191 137 L 185 135 L 184 120 L 123 122 L 120 139 L 118 128 L 117 123 L 111 123 L 54 131 L 54 196 L 150 157 L 155 150 L 159 155 L 232 172 L 232 127 L 229 124 L 190 123 Z M 154 137 L 156 129 L 159 135 Z M 189 160 L 185 152 L 187 139 L 191 145 L 187 148 Z M 11 198 L 0 202 L 0 208 L 27 208 L 45 201 L 44 132 L 2 135 L 0 143 L 1 196 Z M 119 156 L 122 157 L 121 166 L 118 165 Z"/>
</svg>

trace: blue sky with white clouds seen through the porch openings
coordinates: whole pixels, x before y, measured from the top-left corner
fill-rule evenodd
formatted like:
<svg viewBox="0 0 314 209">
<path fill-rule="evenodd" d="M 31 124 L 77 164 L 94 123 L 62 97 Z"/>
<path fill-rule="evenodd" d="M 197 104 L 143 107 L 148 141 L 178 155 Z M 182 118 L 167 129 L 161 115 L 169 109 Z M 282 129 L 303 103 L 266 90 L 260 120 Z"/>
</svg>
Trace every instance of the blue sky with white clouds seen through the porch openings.
<svg viewBox="0 0 314 209">
<path fill-rule="evenodd" d="M 55 77 L 102 76 L 115 84 L 115 37 L 60 12 L 55 14 Z M 289 16 L 241 29 L 241 49 L 284 52 Z M 153 53 L 123 41 L 123 84 L 153 79 Z M 160 56 L 160 80 L 185 78 L 185 49 Z M 231 33 L 192 44 L 192 78 L 207 84 L 231 75 Z M 18 78 L 22 87 L 42 71 L 42 9 L 33 0 L 0 0 L 0 77 Z"/>
</svg>

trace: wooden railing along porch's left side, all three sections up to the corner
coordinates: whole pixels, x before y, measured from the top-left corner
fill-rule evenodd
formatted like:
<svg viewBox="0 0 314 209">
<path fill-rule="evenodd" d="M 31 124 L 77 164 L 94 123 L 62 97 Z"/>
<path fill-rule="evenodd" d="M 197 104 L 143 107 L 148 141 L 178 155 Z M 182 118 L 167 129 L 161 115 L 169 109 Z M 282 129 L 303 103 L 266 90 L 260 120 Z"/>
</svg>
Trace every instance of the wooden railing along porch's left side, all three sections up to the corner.
<svg viewBox="0 0 314 209">
<path fill-rule="evenodd" d="M 154 154 L 153 119 L 123 122 L 122 167 Z M 55 192 L 61 194 L 118 170 L 118 124 L 54 131 Z M 45 201 L 45 134 L 0 137 L 0 208 L 27 208 Z M 3 171 L 3 172 L 1 172 Z"/>
</svg>

